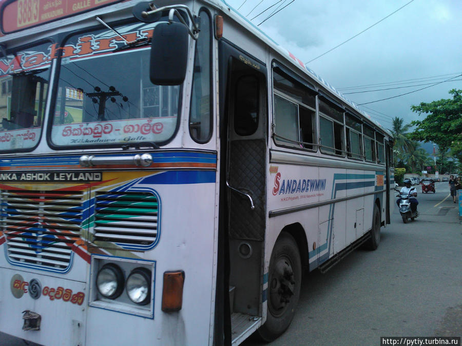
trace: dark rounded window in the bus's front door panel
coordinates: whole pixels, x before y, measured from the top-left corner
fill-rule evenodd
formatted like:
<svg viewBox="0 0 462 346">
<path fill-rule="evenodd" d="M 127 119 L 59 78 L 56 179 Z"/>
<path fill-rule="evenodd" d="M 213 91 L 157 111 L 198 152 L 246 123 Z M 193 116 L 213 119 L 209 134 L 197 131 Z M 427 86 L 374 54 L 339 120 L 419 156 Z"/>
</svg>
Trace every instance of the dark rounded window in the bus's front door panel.
<svg viewBox="0 0 462 346">
<path fill-rule="evenodd" d="M 259 83 L 254 75 L 243 76 L 236 83 L 234 131 L 240 136 L 254 134 L 258 128 Z"/>
</svg>

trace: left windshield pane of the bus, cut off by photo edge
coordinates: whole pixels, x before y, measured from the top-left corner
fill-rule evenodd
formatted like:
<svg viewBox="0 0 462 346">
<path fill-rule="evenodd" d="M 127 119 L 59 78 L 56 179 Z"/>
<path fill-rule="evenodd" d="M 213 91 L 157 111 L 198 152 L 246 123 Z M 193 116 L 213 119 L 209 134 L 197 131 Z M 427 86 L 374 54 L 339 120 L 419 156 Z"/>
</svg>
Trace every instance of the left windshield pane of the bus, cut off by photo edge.
<svg viewBox="0 0 462 346">
<path fill-rule="evenodd" d="M 31 149 L 38 143 L 53 51 L 47 43 L 0 54 L 0 150 Z"/>
</svg>

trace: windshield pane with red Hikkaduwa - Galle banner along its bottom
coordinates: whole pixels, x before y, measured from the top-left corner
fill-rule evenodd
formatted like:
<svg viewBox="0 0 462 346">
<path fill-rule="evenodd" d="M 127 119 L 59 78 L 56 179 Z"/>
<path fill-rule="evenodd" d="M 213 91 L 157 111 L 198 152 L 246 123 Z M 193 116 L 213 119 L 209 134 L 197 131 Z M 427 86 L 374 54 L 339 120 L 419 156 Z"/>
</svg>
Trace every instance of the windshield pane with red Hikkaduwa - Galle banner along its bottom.
<svg viewBox="0 0 462 346">
<path fill-rule="evenodd" d="M 71 36 L 63 47 L 51 141 L 55 146 L 165 144 L 177 128 L 181 86 L 149 79 L 149 37 L 135 23 Z"/>
</svg>

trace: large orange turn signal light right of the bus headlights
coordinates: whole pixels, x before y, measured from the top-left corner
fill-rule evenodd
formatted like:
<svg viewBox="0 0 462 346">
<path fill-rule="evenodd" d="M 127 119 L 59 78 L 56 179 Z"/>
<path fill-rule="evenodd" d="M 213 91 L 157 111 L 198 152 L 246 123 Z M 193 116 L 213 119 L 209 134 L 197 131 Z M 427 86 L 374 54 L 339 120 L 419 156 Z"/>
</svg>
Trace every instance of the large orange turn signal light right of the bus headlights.
<svg viewBox="0 0 462 346">
<path fill-rule="evenodd" d="M 174 271 L 164 273 L 162 290 L 162 311 L 180 311 L 183 305 L 184 272 Z"/>
</svg>

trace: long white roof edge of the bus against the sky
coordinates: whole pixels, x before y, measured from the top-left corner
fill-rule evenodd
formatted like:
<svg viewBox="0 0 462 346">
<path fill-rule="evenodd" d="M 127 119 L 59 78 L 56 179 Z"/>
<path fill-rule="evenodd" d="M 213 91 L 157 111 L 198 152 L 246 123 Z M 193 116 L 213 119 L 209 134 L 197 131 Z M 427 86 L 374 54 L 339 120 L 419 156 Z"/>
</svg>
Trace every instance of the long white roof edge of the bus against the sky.
<svg viewBox="0 0 462 346">
<path fill-rule="evenodd" d="M 307 68 L 303 62 L 298 59 L 294 54 L 280 46 L 275 40 L 271 37 L 266 35 L 262 30 L 260 30 L 255 24 L 249 21 L 246 17 L 244 17 L 241 13 L 239 13 L 235 8 L 230 6 L 226 0 L 203 0 L 206 3 L 214 5 L 215 7 L 221 8 L 224 12 L 235 19 L 239 24 L 243 25 L 247 30 L 255 34 L 257 37 L 262 39 L 268 46 L 273 48 L 275 51 L 280 53 L 281 55 L 285 56 L 285 58 L 292 63 L 293 66 L 297 67 L 299 70 L 303 71 L 306 75 L 310 76 L 317 82 L 320 86 L 324 89 L 328 90 L 328 92 L 332 93 L 333 96 L 336 96 L 343 104 L 350 106 L 359 114 L 363 115 L 366 119 L 368 119 L 373 125 L 380 128 L 383 132 L 387 133 L 389 136 L 393 137 L 392 133 L 384 128 L 382 125 L 378 123 L 375 119 L 373 119 L 368 113 L 360 110 L 358 106 L 347 97 L 345 97 L 342 93 L 340 93 L 337 89 L 335 89 L 331 84 L 326 82 L 321 76 L 319 76 L 316 72 Z"/>
</svg>

